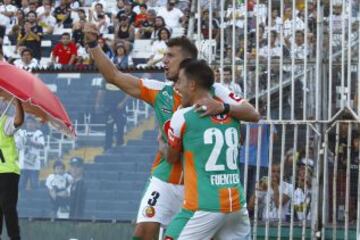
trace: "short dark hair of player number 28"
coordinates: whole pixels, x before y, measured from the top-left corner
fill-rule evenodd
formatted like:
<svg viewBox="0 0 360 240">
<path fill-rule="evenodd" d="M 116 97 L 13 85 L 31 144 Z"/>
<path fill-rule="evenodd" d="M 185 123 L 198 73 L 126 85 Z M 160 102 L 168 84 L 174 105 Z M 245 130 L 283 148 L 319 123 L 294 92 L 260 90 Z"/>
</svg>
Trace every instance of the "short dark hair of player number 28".
<svg viewBox="0 0 360 240">
<path fill-rule="evenodd" d="M 214 84 L 214 72 L 204 60 L 185 59 L 181 62 L 180 69 L 201 88 L 210 90 Z"/>
</svg>

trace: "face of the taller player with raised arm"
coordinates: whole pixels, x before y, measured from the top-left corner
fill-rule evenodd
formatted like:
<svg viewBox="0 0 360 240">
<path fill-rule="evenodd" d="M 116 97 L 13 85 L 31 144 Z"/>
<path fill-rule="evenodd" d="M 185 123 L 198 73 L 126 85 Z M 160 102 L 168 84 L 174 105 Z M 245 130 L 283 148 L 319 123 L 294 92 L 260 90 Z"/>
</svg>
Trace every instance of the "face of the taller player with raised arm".
<svg viewBox="0 0 360 240">
<path fill-rule="evenodd" d="M 165 76 L 168 80 L 176 82 L 179 75 L 180 63 L 184 60 L 181 47 L 168 47 L 163 58 Z"/>
</svg>

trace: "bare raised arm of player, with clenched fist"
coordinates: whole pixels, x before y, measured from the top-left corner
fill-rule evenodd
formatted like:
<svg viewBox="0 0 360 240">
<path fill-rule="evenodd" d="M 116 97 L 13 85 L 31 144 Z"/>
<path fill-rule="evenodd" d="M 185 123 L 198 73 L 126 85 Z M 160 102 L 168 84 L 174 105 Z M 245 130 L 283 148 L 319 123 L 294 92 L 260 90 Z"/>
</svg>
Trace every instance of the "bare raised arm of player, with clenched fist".
<svg viewBox="0 0 360 240">
<path fill-rule="evenodd" d="M 125 93 L 139 98 L 140 79 L 119 71 L 103 50 L 97 45 L 98 30 L 95 24 L 86 23 L 84 26 L 85 42 L 94 59 L 96 67 L 108 83 L 114 84 Z"/>
</svg>

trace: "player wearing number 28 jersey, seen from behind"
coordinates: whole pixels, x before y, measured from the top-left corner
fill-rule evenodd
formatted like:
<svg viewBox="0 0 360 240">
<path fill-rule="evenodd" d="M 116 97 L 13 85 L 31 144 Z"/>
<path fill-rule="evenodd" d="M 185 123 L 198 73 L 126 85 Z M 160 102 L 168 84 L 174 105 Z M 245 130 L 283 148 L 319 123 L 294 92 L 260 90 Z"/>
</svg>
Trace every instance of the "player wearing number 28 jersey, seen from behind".
<svg viewBox="0 0 360 240">
<path fill-rule="evenodd" d="M 194 105 L 213 98 L 214 74 L 202 60 L 185 60 L 175 88 L 182 106 L 171 118 L 168 162 L 184 167 L 185 199 L 165 240 L 251 239 L 237 165 L 240 122 L 226 112 L 202 117 Z"/>
</svg>

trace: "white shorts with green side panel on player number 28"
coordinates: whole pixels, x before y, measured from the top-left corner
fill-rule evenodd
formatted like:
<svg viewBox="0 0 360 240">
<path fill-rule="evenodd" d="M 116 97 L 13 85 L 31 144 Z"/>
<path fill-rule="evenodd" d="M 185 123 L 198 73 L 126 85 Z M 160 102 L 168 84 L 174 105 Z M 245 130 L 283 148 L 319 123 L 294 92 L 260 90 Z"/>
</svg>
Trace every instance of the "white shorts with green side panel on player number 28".
<svg viewBox="0 0 360 240">
<path fill-rule="evenodd" d="M 251 240 L 246 208 L 233 213 L 188 211 L 183 209 L 171 221 L 165 240 Z"/>
</svg>

